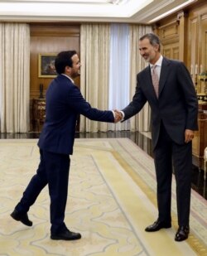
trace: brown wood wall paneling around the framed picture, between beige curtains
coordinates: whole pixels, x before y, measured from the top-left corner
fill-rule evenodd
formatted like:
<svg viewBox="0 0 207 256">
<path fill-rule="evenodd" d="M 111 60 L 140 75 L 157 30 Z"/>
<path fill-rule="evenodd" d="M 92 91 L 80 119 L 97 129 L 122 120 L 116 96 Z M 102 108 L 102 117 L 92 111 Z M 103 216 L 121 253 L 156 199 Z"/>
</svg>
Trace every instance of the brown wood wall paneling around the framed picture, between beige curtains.
<svg viewBox="0 0 207 256">
<path fill-rule="evenodd" d="M 30 99 L 31 99 L 31 131 L 32 131 L 32 100 L 40 96 L 40 84 L 43 95 L 53 78 L 38 77 L 38 56 L 46 53 L 75 50 L 79 54 L 79 25 L 31 25 L 31 57 L 30 57 Z M 75 80 L 79 86 L 79 78 Z"/>
</svg>

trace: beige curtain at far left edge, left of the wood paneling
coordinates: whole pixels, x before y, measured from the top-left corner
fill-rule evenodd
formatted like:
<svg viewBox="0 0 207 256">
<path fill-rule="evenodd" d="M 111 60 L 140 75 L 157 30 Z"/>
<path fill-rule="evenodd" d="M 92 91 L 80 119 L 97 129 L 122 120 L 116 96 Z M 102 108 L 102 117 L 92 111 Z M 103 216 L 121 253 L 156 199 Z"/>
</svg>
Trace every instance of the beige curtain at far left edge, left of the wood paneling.
<svg viewBox="0 0 207 256">
<path fill-rule="evenodd" d="M 29 129 L 30 27 L 0 23 L 1 133 Z"/>
</svg>

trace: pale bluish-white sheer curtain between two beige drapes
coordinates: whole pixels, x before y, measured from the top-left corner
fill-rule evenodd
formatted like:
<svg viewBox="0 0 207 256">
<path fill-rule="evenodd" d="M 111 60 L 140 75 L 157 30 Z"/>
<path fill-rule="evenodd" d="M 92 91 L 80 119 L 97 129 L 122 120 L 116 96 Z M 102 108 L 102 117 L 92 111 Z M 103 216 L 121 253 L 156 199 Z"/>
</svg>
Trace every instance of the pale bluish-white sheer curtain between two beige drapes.
<svg viewBox="0 0 207 256">
<path fill-rule="evenodd" d="M 112 24 L 110 27 L 109 109 L 123 109 L 129 102 L 129 26 Z M 108 123 L 113 131 L 129 130 L 130 120 Z"/>
</svg>

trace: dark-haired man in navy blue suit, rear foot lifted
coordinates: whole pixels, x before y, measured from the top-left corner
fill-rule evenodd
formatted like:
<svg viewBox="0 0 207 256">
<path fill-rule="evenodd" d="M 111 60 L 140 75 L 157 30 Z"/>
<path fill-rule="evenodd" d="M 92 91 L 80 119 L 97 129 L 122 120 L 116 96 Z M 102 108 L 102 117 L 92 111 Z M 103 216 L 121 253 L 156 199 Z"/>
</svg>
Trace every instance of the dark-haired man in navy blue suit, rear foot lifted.
<svg viewBox="0 0 207 256">
<path fill-rule="evenodd" d="M 77 116 L 83 114 L 91 120 L 102 122 L 117 121 L 113 111 L 94 109 L 85 101 L 73 80 L 79 76 L 79 68 L 76 51 L 62 51 L 55 59 L 58 75 L 46 92 L 46 121 L 38 142 L 40 164 L 11 214 L 14 220 L 31 226 L 27 212 L 48 184 L 51 197 L 51 239 L 81 238 L 79 233 L 67 229 L 64 222 Z"/>
</svg>

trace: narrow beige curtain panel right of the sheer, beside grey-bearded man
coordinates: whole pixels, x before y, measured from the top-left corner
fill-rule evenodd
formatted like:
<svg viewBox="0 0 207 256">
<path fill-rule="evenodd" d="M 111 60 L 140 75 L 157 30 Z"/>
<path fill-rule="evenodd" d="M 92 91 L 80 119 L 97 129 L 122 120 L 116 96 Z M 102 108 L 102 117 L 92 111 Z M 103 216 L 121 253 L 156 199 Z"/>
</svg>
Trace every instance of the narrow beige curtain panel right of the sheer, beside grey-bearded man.
<svg viewBox="0 0 207 256">
<path fill-rule="evenodd" d="M 144 69 L 148 64 L 142 59 L 139 54 L 139 38 L 144 34 L 152 32 L 151 26 L 130 25 L 130 99 L 135 93 L 137 85 L 137 73 Z M 149 104 L 145 104 L 139 114 L 130 118 L 131 131 L 148 132 L 150 130 L 151 109 Z"/>
</svg>

